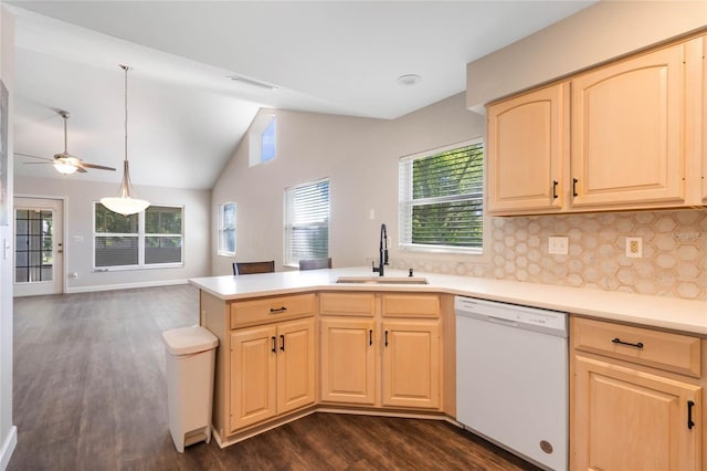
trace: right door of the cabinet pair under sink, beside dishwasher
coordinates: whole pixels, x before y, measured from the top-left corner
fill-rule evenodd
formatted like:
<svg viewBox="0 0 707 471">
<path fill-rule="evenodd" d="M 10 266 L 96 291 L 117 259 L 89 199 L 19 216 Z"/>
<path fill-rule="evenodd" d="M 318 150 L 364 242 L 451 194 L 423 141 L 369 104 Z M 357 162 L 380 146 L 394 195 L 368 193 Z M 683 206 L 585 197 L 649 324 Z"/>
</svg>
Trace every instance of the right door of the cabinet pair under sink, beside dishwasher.
<svg viewBox="0 0 707 471">
<path fill-rule="evenodd" d="M 440 407 L 440 322 L 383 322 L 383 406 Z"/>
</svg>

